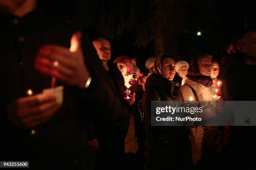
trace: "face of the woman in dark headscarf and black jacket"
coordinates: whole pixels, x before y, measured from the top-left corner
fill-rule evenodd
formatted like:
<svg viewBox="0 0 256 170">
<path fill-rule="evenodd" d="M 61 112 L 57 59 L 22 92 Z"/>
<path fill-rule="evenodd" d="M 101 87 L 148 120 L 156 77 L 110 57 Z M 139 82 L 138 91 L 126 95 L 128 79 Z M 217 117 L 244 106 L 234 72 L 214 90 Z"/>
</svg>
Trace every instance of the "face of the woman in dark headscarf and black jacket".
<svg viewBox="0 0 256 170">
<path fill-rule="evenodd" d="M 176 73 L 175 61 L 172 58 L 165 58 L 161 63 L 161 68 L 162 68 L 163 76 L 166 79 L 172 81 Z"/>
</svg>

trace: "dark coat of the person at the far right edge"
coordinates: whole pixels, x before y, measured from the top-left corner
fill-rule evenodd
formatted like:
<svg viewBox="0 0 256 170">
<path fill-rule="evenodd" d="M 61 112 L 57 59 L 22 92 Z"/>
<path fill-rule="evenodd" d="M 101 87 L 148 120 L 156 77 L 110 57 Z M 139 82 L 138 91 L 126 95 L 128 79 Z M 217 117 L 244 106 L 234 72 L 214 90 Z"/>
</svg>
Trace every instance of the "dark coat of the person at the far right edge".
<svg viewBox="0 0 256 170">
<path fill-rule="evenodd" d="M 234 56 L 243 59 L 239 53 Z M 255 101 L 255 72 L 256 65 L 247 65 L 243 60 L 228 67 L 221 86 L 223 100 Z M 230 126 L 230 130 L 232 131 L 229 143 L 230 155 L 228 155 L 230 163 L 236 162 L 236 168 L 255 168 L 255 155 L 251 153 L 256 152 L 256 126 Z"/>
</svg>

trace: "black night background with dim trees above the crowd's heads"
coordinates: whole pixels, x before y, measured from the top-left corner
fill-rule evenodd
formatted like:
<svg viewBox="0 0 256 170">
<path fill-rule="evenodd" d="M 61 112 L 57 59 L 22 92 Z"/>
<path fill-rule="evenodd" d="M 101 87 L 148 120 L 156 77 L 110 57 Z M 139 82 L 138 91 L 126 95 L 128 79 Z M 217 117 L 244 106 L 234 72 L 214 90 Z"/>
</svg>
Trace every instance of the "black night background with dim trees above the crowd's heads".
<svg viewBox="0 0 256 170">
<path fill-rule="evenodd" d="M 50 17 L 72 21 L 92 40 L 108 39 L 112 59 L 119 55 L 137 57 L 141 71 L 148 57 L 162 52 L 172 54 L 176 60 L 189 61 L 192 54 L 202 51 L 220 60 L 236 30 L 256 26 L 253 0 L 46 0 L 44 3 Z M 198 31 L 201 36 L 197 36 Z"/>
</svg>

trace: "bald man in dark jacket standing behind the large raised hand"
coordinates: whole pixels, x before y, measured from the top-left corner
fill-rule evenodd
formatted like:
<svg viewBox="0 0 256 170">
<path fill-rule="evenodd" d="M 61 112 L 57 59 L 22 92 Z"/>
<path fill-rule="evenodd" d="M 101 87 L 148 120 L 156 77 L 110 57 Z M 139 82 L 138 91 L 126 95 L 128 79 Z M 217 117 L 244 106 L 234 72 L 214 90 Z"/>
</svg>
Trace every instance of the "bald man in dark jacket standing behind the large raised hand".
<svg viewBox="0 0 256 170">
<path fill-rule="evenodd" d="M 96 143 L 98 139 L 98 169 L 106 167 L 109 169 L 123 169 L 125 150 L 124 140 L 128 131 L 130 111 L 128 108 L 128 102 L 123 100 L 125 92 L 124 79 L 117 66 L 109 61 L 111 51 L 108 40 L 104 38 L 97 38 L 93 41 L 93 45 L 106 70 L 108 79 L 113 81 L 113 88 L 119 94 L 120 100 L 123 102 L 120 106 L 122 107 L 122 110 L 120 110 L 116 115 L 113 115 L 113 120 L 108 122 L 110 129 L 105 129 L 104 125 L 99 124 L 97 121 L 93 121 L 95 127 L 95 139 L 91 140 L 89 143 Z"/>
</svg>

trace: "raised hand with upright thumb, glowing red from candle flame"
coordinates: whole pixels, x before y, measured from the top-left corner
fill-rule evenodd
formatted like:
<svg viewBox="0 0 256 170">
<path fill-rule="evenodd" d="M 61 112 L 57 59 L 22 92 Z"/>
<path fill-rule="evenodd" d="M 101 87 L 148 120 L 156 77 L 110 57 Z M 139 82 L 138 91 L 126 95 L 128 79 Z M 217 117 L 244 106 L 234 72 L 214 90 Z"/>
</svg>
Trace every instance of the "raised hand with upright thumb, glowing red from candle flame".
<svg viewBox="0 0 256 170">
<path fill-rule="evenodd" d="M 84 87 L 90 74 L 84 63 L 81 38 L 82 34 L 75 32 L 71 38 L 70 48 L 59 45 L 42 46 L 36 57 L 36 70 L 44 75 L 56 77 L 68 85 Z M 54 84 L 52 78 L 51 86 Z"/>
</svg>

